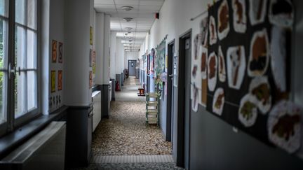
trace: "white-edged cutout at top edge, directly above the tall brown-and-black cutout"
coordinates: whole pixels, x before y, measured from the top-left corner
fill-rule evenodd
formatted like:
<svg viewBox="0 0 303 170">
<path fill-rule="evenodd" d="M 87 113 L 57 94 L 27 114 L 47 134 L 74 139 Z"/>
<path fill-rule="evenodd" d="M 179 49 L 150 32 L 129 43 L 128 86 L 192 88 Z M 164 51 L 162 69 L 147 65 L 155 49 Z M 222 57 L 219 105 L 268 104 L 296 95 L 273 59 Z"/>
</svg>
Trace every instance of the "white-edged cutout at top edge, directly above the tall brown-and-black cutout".
<svg viewBox="0 0 303 170">
<path fill-rule="evenodd" d="M 267 10 L 267 0 L 250 0 L 250 23 L 252 25 L 264 22 Z"/>
</svg>

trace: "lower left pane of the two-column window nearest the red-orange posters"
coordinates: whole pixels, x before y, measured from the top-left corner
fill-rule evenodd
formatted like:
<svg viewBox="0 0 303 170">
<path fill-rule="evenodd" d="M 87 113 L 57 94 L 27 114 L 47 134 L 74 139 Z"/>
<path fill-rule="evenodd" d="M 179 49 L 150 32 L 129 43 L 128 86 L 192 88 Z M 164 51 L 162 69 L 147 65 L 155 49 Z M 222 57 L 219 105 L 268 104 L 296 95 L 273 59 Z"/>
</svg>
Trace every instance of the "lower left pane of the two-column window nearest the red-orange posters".
<svg viewBox="0 0 303 170">
<path fill-rule="evenodd" d="M 17 73 L 15 76 L 15 118 L 24 115 L 25 108 L 25 72 Z"/>
</svg>

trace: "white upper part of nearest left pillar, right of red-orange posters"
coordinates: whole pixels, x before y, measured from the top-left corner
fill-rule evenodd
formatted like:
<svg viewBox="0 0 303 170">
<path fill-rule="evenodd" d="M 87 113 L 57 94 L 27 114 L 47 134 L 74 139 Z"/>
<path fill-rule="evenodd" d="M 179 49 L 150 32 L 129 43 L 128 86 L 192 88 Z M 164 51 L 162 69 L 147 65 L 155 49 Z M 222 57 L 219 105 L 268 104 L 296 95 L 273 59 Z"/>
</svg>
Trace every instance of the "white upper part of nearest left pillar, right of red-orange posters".
<svg viewBox="0 0 303 170">
<path fill-rule="evenodd" d="M 65 99 L 67 106 L 88 106 L 90 4 L 93 0 L 65 0 Z M 79 12 L 81 11 L 81 12 Z"/>
</svg>

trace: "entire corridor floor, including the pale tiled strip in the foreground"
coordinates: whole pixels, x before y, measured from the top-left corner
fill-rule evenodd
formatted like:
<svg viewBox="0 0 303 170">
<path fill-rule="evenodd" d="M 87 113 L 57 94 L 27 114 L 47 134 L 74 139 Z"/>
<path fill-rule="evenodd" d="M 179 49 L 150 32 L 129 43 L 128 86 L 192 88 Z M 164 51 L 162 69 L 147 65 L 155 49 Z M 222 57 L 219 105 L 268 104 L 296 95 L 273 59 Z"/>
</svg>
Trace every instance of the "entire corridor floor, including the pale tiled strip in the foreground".
<svg viewBox="0 0 303 170">
<path fill-rule="evenodd" d="M 109 119 L 102 119 L 93 133 L 88 169 L 177 169 L 171 143 L 163 139 L 159 126 L 145 124 L 145 97 L 137 96 L 138 87 L 139 80 L 130 77 L 116 92 Z"/>
</svg>

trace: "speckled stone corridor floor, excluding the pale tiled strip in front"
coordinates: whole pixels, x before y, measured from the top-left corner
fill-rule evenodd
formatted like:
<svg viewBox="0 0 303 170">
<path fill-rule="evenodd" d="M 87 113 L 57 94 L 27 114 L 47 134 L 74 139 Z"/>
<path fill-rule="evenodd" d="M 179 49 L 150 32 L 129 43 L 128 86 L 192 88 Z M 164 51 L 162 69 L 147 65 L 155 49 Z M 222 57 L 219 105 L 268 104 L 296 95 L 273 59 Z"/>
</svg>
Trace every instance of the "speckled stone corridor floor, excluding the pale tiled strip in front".
<svg viewBox="0 0 303 170">
<path fill-rule="evenodd" d="M 137 88 L 133 82 L 124 85 L 120 96 L 128 93 L 128 88 Z M 137 91 L 130 93 L 137 94 Z M 145 97 L 139 98 L 145 101 Z M 120 99 L 116 95 L 116 101 L 111 102 L 109 119 L 102 119 L 93 133 L 93 155 L 170 155 L 171 143 L 163 139 L 161 129 L 145 125 L 145 102 Z"/>
</svg>

